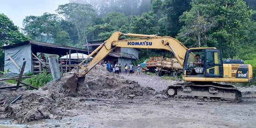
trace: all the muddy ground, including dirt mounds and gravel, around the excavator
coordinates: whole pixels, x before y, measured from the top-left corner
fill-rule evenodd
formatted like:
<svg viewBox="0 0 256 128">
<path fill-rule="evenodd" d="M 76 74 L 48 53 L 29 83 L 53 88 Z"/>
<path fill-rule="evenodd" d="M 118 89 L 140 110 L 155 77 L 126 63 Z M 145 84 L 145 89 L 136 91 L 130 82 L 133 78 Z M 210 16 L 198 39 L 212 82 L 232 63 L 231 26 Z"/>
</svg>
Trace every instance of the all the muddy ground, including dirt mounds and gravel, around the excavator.
<svg viewBox="0 0 256 128">
<path fill-rule="evenodd" d="M 239 103 L 177 101 L 160 91 L 180 81 L 116 75 L 98 66 L 74 97 L 62 86 L 69 77 L 39 91 L 1 91 L 1 99 L 23 97 L 1 106 L 0 118 L 29 128 L 256 128 L 255 86 L 239 87 L 244 97 Z"/>
</svg>

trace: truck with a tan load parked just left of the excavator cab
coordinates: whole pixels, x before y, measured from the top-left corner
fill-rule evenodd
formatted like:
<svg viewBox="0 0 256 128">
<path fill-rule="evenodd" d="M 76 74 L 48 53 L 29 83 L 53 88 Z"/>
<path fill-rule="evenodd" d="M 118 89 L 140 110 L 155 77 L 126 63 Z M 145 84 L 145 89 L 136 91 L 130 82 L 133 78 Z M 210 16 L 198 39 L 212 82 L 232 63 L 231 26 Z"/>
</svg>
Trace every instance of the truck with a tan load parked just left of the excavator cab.
<svg viewBox="0 0 256 128">
<path fill-rule="evenodd" d="M 183 67 L 175 58 L 164 58 L 158 60 L 156 63 L 156 71 L 158 76 L 163 76 L 165 73 L 169 73 L 173 77 L 177 77 L 182 73 Z"/>
</svg>

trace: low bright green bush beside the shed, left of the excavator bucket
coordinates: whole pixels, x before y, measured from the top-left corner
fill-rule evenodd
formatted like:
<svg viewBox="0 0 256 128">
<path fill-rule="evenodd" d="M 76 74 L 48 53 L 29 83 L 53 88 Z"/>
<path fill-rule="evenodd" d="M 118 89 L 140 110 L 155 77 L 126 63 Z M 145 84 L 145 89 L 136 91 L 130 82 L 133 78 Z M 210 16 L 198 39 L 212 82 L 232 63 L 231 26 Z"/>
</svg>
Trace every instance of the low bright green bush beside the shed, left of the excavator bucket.
<svg viewBox="0 0 256 128">
<path fill-rule="evenodd" d="M 42 87 L 47 82 L 50 82 L 52 80 L 53 80 L 52 75 L 50 73 L 47 74 L 46 70 L 44 70 L 42 73 L 39 73 L 29 79 L 26 79 L 25 82 L 27 82 L 35 87 Z"/>
</svg>

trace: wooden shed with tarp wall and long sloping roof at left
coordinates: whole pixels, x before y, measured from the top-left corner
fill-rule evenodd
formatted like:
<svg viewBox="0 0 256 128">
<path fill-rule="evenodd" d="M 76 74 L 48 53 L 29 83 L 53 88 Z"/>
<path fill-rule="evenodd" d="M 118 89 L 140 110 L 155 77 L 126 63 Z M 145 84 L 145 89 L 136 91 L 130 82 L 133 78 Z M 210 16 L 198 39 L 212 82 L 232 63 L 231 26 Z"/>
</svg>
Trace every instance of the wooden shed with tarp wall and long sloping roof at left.
<svg viewBox="0 0 256 128">
<path fill-rule="evenodd" d="M 41 54 L 67 55 L 72 53 L 88 54 L 87 49 L 71 46 L 60 46 L 36 41 L 26 41 L 14 45 L 3 46 L 4 70 L 9 69 L 9 73 L 19 73 L 24 61 L 26 67 L 24 73 L 40 73 L 44 69 L 49 70 L 47 59 L 40 58 Z"/>
</svg>

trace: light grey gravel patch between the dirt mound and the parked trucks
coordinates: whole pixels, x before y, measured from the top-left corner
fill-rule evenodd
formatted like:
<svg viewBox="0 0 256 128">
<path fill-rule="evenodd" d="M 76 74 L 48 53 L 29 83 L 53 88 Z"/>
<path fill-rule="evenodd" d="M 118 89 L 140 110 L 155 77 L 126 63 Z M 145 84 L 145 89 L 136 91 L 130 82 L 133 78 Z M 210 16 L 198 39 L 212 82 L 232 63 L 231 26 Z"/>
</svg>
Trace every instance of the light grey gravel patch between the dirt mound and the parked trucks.
<svg viewBox="0 0 256 128">
<path fill-rule="evenodd" d="M 178 81 L 164 80 L 162 77 L 146 75 L 144 73 L 141 73 L 140 75 L 136 75 L 136 74 L 126 75 L 126 73 L 121 73 L 120 75 L 125 77 L 128 80 L 138 82 L 141 86 L 151 87 L 155 89 L 155 91 L 163 91 L 169 85 L 178 83 Z"/>
</svg>

